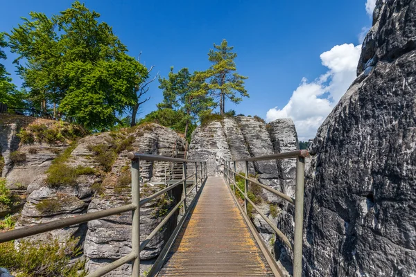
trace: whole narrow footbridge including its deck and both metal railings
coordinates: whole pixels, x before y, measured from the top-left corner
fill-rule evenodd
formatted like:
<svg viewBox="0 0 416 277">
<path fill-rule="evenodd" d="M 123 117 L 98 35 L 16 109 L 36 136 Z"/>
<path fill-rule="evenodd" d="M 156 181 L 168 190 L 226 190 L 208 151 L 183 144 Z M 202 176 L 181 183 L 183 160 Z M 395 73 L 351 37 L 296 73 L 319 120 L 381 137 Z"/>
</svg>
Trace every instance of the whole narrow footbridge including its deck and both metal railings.
<svg viewBox="0 0 416 277">
<path fill-rule="evenodd" d="M 263 220 L 270 224 L 277 238 L 293 250 L 293 276 L 300 277 L 302 276 L 304 157 L 307 155 L 308 152 L 302 150 L 241 160 L 245 162 L 245 175 L 236 172 L 236 161 L 233 161 L 234 168 L 231 166 L 231 161 L 223 161 L 224 177 L 207 177 L 205 161 L 130 152 L 128 158 L 132 160 L 131 204 L 0 233 L 0 243 L 132 211 L 131 253 L 91 272 L 88 276 L 104 276 L 117 267 L 132 262 L 132 276 L 139 277 L 139 253 L 180 209 L 182 219 L 147 276 L 281 276 L 281 271 L 248 217 L 247 207 L 251 204 Z M 295 199 L 247 177 L 249 161 L 288 158 L 297 159 Z M 182 163 L 182 179 L 149 197 L 139 199 L 140 160 Z M 193 167 L 191 170 L 189 170 L 190 165 Z M 237 175 L 245 179 L 244 190 L 236 186 Z M 295 204 L 293 242 L 286 238 L 248 198 L 249 181 Z M 140 242 L 140 207 L 177 186 L 182 186 L 182 198 L 146 239 Z M 243 195 L 243 205 L 239 204 L 239 199 L 236 198 L 236 190 Z M 194 196 L 190 199 L 192 195 Z"/>
</svg>

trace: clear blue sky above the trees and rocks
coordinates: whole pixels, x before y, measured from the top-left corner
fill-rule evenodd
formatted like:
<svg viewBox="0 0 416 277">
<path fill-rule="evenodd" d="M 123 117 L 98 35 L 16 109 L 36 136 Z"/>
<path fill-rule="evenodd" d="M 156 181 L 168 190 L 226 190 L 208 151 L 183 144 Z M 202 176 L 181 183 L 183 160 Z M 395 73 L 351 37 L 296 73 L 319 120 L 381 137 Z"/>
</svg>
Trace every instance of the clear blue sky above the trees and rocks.
<svg viewBox="0 0 416 277">
<path fill-rule="evenodd" d="M 0 31 L 9 32 L 21 22 L 20 17 L 27 17 L 32 10 L 53 15 L 69 8 L 71 2 L 5 1 L 1 5 Z M 371 26 L 365 0 L 81 2 L 101 14 L 101 20 L 110 24 L 121 42 L 128 46 L 130 55 L 137 56 L 142 51 L 141 61 L 146 62 L 146 66 L 155 65 L 154 72 L 159 71 L 162 76 L 167 75 L 171 66 L 175 69 L 188 67 L 191 71 L 207 69 L 210 66 L 209 48 L 214 42 L 219 44 L 223 38 L 227 39 L 238 53 L 236 66 L 239 73 L 249 77 L 246 89 L 250 98 L 240 105 L 227 103 L 225 108 L 235 109 L 237 114 L 257 114 L 268 120 L 275 118 L 273 111 L 277 111 L 277 116 L 293 117 L 298 133 L 305 139 L 313 137 L 315 127 L 300 132 L 299 114 L 293 115 L 294 111 L 284 108 L 299 87 L 314 83 L 316 78 L 333 71 L 331 57 L 325 62 L 320 56 L 322 53 L 337 45 L 351 44 L 351 50 L 360 44 L 358 37 L 363 28 Z M 359 55 L 359 50 L 352 50 L 354 59 L 357 51 Z M 340 55 L 347 52 L 338 49 Z M 19 85 L 21 80 L 13 72 L 13 57 L 9 53 L 5 64 Z M 336 55 L 333 59 L 339 60 Z M 356 61 L 352 63 L 356 64 Z M 328 74 L 329 79 L 322 82 L 325 86 L 334 77 Z M 156 109 L 155 105 L 162 100 L 157 82 L 149 93 L 152 99 L 142 107 L 141 116 Z M 318 93 L 316 98 L 328 98 L 331 107 L 338 100 L 331 98 L 331 91 Z"/>
</svg>

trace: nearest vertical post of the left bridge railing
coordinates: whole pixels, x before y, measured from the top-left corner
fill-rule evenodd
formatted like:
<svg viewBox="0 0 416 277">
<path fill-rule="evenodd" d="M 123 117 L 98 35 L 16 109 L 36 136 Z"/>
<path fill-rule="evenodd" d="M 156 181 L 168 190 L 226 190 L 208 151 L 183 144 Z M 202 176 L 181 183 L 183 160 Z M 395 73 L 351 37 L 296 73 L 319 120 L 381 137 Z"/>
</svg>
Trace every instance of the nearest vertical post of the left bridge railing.
<svg viewBox="0 0 416 277">
<path fill-rule="evenodd" d="M 132 276 L 140 275 L 140 161 L 132 159 L 132 204 L 136 209 L 132 211 L 132 252 L 137 258 L 132 260 Z"/>
</svg>

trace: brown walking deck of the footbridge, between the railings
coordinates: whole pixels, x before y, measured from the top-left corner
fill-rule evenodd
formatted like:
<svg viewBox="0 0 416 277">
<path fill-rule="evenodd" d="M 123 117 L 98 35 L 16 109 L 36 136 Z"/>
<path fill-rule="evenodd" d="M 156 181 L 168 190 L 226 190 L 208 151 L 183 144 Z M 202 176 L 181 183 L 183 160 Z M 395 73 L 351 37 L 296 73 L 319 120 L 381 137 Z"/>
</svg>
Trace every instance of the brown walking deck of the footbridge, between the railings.
<svg viewBox="0 0 416 277">
<path fill-rule="evenodd" d="M 157 276 L 275 276 L 222 177 L 209 177 Z"/>
</svg>

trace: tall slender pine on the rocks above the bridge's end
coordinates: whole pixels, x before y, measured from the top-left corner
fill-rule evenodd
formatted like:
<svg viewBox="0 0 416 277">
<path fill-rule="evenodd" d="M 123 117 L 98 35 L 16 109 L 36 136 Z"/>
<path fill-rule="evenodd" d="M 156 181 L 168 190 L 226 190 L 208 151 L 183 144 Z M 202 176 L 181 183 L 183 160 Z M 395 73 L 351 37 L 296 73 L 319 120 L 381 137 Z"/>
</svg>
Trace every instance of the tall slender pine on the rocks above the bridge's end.
<svg viewBox="0 0 416 277">
<path fill-rule="evenodd" d="M 219 102 L 221 116 L 225 113 L 226 99 L 239 104 L 243 100 L 242 97 L 249 97 L 244 87 L 244 80 L 248 77 L 236 73 L 234 59 L 237 54 L 232 52 L 233 48 L 234 46 L 228 46 L 225 39 L 220 45 L 214 44 L 214 49 L 208 53 L 208 60 L 213 64 L 207 71 L 200 73 L 201 78 L 207 80 L 202 89 L 208 91 Z"/>
</svg>

